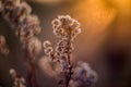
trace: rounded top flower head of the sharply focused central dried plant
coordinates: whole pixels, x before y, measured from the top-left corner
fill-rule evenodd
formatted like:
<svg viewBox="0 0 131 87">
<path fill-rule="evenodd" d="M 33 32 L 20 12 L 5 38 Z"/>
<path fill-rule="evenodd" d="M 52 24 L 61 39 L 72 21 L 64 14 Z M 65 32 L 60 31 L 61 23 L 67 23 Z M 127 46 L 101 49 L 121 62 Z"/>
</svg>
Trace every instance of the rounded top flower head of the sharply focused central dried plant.
<svg viewBox="0 0 131 87">
<path fill-rule="evenodd" d="M 80 33 L 80 23 L 69 15 L 59 15 L 52 21 L 53 33 L 57 37 L 71 37 Z M 75 29 L 75 30 L 74 30 Z M 73 32 L 72 32 L 73 30 Z"/>
</svg>

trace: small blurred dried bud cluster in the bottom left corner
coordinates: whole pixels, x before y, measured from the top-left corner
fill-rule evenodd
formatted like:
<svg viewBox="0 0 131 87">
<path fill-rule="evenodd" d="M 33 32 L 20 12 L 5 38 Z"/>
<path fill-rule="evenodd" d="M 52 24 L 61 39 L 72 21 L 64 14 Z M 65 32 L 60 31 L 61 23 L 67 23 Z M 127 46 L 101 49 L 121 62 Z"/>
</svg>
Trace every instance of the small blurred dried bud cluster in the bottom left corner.
<svg viewBox="0 0 131 87">
<path fill-rule="evenodd" d="M 19 75 L 14 69 L 11 69 L 9 73 L 14 80 L 13 87 L 26 87 L 25 79 Z"/>
</svg>

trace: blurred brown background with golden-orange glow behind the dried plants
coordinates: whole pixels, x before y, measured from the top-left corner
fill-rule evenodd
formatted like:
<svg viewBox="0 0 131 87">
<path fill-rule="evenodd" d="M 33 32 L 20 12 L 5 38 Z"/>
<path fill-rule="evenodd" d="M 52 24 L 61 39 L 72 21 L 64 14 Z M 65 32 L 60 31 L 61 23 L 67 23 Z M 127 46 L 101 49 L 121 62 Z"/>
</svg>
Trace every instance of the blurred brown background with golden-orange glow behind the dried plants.
<svg viewBox="0 0 131 87">
<path fill-rule="evenodd" d="M 74 41 L 74 61 L 86 61 L 98 73 L 96 87 L 131 87 L 131 0 L 27 0 L 40 20 L 41 40 L 58 39 L 52 34 L 51 21 L 69 14 L 81 22 L 82 34 Z M 0 54 L 0 85 L 11 87 L 9 70 L 14 67 L 26 77 L 24 50 L 14 30 L 0 14 L 0 35 L 4 35 L 10 54 Z M 55 87 L 56 78 L 41 70 L 37 59 L 39 87 Z"/>
</svg>

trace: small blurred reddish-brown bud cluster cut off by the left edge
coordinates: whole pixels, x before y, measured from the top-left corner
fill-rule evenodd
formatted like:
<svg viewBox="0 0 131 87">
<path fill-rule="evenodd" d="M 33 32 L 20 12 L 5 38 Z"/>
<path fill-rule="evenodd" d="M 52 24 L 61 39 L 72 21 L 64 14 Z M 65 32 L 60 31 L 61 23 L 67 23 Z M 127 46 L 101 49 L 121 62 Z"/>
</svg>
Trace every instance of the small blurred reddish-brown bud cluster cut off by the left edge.
<svg viewBox="0 0 131 87">
<path fill-rule="evenodd" d="M 9 53 L 9 46 L 5 41 L 4 36 L 0 35 L 0 52 L 2 54 L 8 54 Z"/>
</svg>

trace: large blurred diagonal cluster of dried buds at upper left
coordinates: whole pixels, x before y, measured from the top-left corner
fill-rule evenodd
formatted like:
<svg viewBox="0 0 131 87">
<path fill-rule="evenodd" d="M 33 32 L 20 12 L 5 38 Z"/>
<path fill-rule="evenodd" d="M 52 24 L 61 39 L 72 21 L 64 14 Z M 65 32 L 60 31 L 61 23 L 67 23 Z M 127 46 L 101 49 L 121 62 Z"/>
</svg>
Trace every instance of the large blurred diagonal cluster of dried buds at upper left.
<svg viewBox="0 0 131 87">
<path fill-rule="evenodd" d="M 23 0 L 0 0 L 0 11 L 4 20 L 15 28 L 15 34 L 26 48 L 28 55 L 36 57 L 41 49 L 41 42 L 36 35 L 41 28 L 38 17 L 31 14 L 32 8 Z"/>
</svg>

